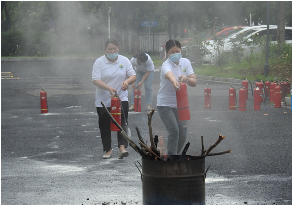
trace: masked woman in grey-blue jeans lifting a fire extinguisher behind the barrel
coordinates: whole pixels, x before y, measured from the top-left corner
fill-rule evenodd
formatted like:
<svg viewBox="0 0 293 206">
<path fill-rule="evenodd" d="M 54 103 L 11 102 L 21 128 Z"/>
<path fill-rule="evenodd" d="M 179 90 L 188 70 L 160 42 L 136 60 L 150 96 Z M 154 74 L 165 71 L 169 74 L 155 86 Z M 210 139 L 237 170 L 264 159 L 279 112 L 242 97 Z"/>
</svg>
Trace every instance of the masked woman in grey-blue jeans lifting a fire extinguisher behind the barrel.
<svg viewBox="0 0 293 206">
<path fill-rule="evenodd" d="M 168 155 L 178 155 L 187 138 L 187 120 L 179 121 L 176 88 L 178 86 L 180 89 L 179 79 L 194 87 L 197 85 L 197 78 L 190 61 L 182 58 L 179 41 L 167 41 L 165 49 L 168 59 L 161 68 L 157 108 L 169 134 L 167 140 Z"/>
</svg>

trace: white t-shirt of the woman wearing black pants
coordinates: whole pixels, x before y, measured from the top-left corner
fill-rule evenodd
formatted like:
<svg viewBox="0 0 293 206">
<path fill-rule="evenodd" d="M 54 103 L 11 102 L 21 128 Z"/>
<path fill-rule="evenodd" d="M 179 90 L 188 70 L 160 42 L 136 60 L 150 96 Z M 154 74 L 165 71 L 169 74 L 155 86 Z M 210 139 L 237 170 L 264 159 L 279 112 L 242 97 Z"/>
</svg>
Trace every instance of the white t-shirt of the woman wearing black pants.
<svg viewBox="0 0 293 206">
<path fill-rule="evenodd" d="M 115 88 L 121 101 L 128 101 L 128 92 L 122 91 L 121 84 L 128 77 L 136 75 L 127 57 L 118 55 L 117 60 L 112 63 L 105 55 L 98 58 L 92 68 L 92 81 L 102 80 L 108 86 Z M 110 92 L 99 87 L 95 90 L 95 106 L 102 107 L 101 101 L 106 107 L 111 107 Z"/>
</svg>

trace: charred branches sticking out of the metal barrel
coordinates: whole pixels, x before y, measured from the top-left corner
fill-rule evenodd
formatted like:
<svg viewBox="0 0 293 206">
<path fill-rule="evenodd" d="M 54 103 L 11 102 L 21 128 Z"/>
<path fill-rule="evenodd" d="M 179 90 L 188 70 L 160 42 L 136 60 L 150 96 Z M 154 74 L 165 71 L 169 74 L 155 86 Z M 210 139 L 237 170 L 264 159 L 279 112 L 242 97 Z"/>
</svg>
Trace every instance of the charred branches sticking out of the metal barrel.
<svg viewBox="0 0 293 206">
<path fill-rule="evenodd" d="M 182 161 L 182 160 L 194 160 L 194 159 L 200 159 L 205 158 L 206 156 L 214 156 L 214 155 L 223 155 L 227 153 L 231 153 L 231 149 L 227 151 L 217 152 L 217 153 L 210 153 L 213 148 L 215 148 L 226 136 L 223 136 L 219 134 L 218 140 L 212 144 L 208 150 L 204 150 L 204 138 L 201 136 L 202 140 L 202 150 L 200 156 L 190 156 L 186 155 L 187 150 L 190 146 L 190 143 L 188 142 L 186 146 L 184 147 L 181 155 L 160 155 L 160 150 L 158 148 L 158 135 L 155 135 L 153 138 L 153 131 L 152 131 L 152 116 L 155 112 L 155 109 L 148 114 L 148 127 L 149 127 L 149 137 L 151 146 L 150 148 L 148 145 L 146 145 L 143 141 L 143 138 L 140 135 L 140 131 L 138 127 L 135 127 L 138 135 L 138 142 L 141 145 L 141 148 L 139 148 L 127 135 L 127 133 L 123 130 L 123 128 L 115 121 L 115 119 L 112 117 L 111 113 L 107 110 L 103 102 L 101 101 L 101 104 L 107 114 L 110 116 L 111 121 L 121 130 L 121 135 L 128 141 L 129 145 L 137 152 L 143 159 L 151 159 L 151 160 L 160 160 L 160 161 Z M 208 170 L 208 169 L 207 169 Z"/>
</svg>

